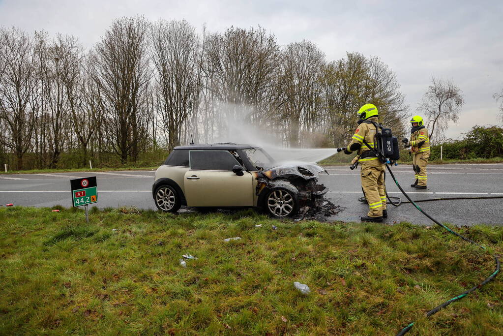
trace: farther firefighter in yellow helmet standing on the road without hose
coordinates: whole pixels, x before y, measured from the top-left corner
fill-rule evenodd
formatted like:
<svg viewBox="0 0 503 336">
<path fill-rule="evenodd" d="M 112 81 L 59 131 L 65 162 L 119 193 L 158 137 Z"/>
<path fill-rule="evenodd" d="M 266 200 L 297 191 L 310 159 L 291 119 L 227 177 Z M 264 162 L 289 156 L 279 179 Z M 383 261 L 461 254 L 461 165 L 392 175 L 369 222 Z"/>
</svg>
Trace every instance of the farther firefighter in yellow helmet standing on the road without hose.
<svg viewBox="0 0 503 336">
<path fill-rule="evenodd" d="M 415 182 L 411 188 L 426 189 L 428 178 L 426 176 L 426 166 L 430 158 L 430 138 L 428 130 L 425 128 L 423 118 L 413 116 L 410 119 L 412 129 L 410 130 L 410 141 L 403 138 L 405 146 L 410 146 L 412 153 L 412 169 L 415 173 Z"/>
</svg>

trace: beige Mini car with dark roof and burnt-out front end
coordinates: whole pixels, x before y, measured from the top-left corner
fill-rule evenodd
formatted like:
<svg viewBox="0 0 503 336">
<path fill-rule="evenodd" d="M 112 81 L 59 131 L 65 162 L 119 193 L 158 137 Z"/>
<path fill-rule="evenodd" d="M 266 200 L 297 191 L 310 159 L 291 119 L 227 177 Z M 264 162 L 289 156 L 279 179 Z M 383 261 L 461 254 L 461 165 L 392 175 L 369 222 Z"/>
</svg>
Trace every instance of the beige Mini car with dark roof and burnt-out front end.
<svg viewBox="0 0 503 336">
<path fill-rule="evenodd" d="M 261 208 L 277 218 L 313 207 L 328 191 L 315 163 L 277 164 L 261 147 L 216 143 L 175 147 L 155 172 L 152 196 L 161 211 L 181 206 Z"/>
</svg>

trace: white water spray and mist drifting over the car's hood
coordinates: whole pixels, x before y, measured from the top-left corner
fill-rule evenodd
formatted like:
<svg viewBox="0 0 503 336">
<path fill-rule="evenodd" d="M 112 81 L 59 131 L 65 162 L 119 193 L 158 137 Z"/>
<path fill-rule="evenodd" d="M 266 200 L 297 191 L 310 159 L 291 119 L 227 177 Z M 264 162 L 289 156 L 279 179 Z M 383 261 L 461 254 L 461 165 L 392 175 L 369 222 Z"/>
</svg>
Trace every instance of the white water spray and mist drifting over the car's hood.
<svg viewBox="0 0 503 336">
<path fill-rule="evenodd" d="M 232 111 L 232 113 L 229 113 Z M 291 148 L 284 145 L 278 134 L 271 133 L 266 128 L 251 124 L 249 113 L 253 108 L 232 104 L 221 104 L 218 109 L 223 132 L 214 142 L 245 143 L 263 147 L 278 163 L 287 161 L 318 162 L 336 154 L 336 148 Z M 305 141 L 309 142 L 309 141 Z"/>
</svg>

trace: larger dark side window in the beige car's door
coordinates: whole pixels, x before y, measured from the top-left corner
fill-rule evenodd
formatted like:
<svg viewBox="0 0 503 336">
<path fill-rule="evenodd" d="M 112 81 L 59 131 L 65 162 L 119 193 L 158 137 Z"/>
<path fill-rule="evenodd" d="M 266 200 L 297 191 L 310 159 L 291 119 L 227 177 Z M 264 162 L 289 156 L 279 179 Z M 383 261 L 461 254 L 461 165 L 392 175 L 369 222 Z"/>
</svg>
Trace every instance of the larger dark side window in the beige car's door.
<svg viewBox="0 0 503 336">
<path fill-rule="evenodd" d="M 191 150 L 190 167 L 198 171 L 232 171 L 239 162 L 226 150 Z"/>
</svg>

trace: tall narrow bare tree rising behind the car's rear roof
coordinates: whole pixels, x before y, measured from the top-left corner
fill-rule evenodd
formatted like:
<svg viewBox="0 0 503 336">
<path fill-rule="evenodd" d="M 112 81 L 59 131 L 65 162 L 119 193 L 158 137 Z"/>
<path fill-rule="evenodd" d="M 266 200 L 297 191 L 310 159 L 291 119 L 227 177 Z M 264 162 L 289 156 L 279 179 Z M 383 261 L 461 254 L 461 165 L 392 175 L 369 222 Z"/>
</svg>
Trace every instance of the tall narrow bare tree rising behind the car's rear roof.
<svg viewBox="0 0 503 336">
<path fill-rule="evenodd" d="M 157 70 L 155 90 L 158 126 L 167 134 L 169 150 L 180 144 L 189 114 L 197 110 L 201 42 L 187 21 L 159 20 L 150 31 L 152 61 Z"/>
</svg>

